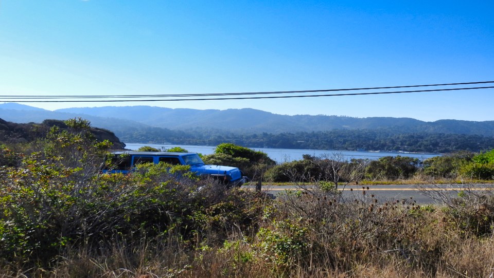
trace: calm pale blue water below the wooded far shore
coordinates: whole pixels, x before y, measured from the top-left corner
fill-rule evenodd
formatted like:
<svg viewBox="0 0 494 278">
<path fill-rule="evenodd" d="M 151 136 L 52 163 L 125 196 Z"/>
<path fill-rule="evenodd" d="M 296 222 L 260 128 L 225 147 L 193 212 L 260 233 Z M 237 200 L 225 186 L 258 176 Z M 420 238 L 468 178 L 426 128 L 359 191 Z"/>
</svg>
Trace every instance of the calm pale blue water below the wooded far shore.
<svg viewBox="0 0 494 278">
<path fill-rule="evenodd" d="M 183 147 L 185 150 L 192 153 L 201 153 L 203 155 L 213 154 L 215 152 L 216 146 L 193 146 L 193 145 L 163 145 L 163 144 L 137 144 L 137 143 L 126 143 L 127 149 L 137 150 L 142 146 L 155 147 L 158 150 L 170 149 L 171 147 Z M 295 150 L 295 149 L 268 149 L 268 148 L 251 148 L 252 150 L 261 151 L 275 160 L 278 163 L 300 160 L 302 155 L 308 154 L 316 157 L 332 155 L 342 155 L 347 160 L 352 158 L 368 158 L 368 159 L 378 159 L 383 156 L 409 156 L 416 157 L 420 160 L 424 160 L 429 157 L 439 156 L 440 154 L 416 154 L 416 153 L 389 153 L 389 152 L 349 152 L 349 151 L 331 151 L 331 150 Z"/>
</svg>

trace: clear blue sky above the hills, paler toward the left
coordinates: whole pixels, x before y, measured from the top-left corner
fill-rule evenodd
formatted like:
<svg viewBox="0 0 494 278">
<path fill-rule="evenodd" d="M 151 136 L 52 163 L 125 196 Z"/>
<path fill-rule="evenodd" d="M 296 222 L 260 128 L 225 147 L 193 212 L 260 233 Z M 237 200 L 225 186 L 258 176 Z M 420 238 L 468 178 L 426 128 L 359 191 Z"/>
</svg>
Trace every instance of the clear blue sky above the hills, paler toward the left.
<svg viewBox="0 0 494 278">
<path fill-rule="evenodd" d="M 191 94 L 494 80 L 492 1 L 0 0 L 0 96 Z M 494 120 L 494 90 L 152 103 Z"/>
</svg>

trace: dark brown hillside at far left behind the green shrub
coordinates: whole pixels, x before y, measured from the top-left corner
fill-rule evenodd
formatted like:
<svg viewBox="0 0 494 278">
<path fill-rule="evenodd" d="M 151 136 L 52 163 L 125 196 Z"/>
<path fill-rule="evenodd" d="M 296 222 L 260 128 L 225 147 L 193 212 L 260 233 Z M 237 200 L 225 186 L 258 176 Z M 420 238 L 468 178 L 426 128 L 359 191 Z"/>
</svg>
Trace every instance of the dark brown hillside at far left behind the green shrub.
<svg viewBox="0 0 494 278">
<path fill-rule="evenodd" d="M 67 125 L 60 120 L 44 120 L 40 123 L 13 123 L 0 119 L 0 143 L 23 143 L 43 138 L 52 126 L 66 129 Z M 107 129 L 91 127 L 91 132 L 98 141 L 109 140 L 113 143 L 112 149 L 125 149 L 115 134 Z"/>
</svg>

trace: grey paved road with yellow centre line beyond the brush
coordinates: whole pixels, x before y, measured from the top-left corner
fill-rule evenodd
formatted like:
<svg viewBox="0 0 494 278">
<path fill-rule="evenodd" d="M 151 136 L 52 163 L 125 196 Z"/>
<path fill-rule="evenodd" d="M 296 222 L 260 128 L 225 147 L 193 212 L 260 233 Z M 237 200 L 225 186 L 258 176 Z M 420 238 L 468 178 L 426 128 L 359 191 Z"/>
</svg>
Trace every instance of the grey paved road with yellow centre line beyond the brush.
<svg viewBox="0 0 494 278">
<path fill-rule="evenodd" d="M 422 188 L 422 190 L 419 189 Z M 494 191 L 494 184 L 468 184 L 469 190 L 472 191 L 483 191 L 490 190 Z M 243 188 L 254 190 L 255 186 L 244 186 Z M 310 189 L 310 186 L 305 188 Z M 262 190 L 274 195 L 284 194 L 287 191 L 303 190 L 299 186 L 270 186 L 269 184 L 263 184 Z M 408 185 L 385 185 L 385 186 L 346 186 L 344 189 L 339 188 L 342 194 L 346 198 L 356 198 L 363 195 L 362 191 L 365 191 L 366 195 L 374 195 L 380 201 L 388 200 L 401 200 L 407 199 L 415 200 L 419 204 L 429 204 L 429 203 L 439 203 L 432 198 L 432 195 L 437 195 L 438 191 L 443 191 L 449 194 L 451 197 L 456 197 L 459 192 L 465 190 L 465 186 L 458 184 L 448 184 L 448 185 L 421 185 L 408 184 Z"/>
</svg>

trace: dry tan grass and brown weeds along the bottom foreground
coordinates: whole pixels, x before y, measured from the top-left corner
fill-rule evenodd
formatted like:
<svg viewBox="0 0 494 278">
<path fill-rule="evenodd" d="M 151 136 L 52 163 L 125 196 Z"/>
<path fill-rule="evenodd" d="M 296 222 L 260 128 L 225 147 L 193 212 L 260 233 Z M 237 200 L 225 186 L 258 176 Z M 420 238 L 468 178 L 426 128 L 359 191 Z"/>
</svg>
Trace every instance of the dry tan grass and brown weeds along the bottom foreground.
<svg viewBox="0 0 494 278">
<path fill-rule="evenodd" d="M 267 203 L 251 234 L 233 225 L 227 240 L 194 246 L 177 234 L 65 249 L 49 269 L 3 262 L 0 277 L 491 277 L 494 234 L 462 228 L 451 213 L 311 190 Z"/>
</svg>

